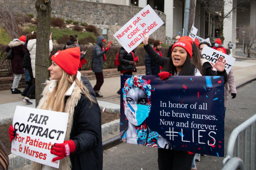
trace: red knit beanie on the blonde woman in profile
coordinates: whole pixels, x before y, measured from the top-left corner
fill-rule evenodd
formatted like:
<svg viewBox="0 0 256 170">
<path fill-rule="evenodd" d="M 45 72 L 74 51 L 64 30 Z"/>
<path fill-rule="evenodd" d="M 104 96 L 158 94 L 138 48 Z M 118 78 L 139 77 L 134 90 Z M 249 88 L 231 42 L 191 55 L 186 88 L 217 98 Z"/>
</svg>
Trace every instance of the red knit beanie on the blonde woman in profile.
<svg viewBox="0 0 256 170">
<path fill-rule="evenodd" d="M 80 48 L 74 47 L 56 52 L 51 59 L 67 74 L 76 75 L 80 63 L 80 55 Z"/>
</svg>

